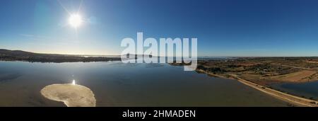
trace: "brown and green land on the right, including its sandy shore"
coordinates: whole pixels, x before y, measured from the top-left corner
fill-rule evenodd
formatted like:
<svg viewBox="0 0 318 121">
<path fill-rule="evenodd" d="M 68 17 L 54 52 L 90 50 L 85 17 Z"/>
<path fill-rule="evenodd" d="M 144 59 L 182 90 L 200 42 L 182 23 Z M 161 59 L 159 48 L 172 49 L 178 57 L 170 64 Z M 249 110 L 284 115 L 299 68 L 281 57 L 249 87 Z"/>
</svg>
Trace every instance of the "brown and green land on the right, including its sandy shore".
<svg viewBox="0 0 318 121">
<path fill-rule="evenodd" d="M 180 66 L 183 64 L 172 63 Z M 312 97 L 298 97 L 273 88 L 273 83 L 318 81 L 318 57 L 236 57 L 201 59 L 198 73 L 235 79 L 270 96 L 298 106 L 318 106 Z"/>
</svg>

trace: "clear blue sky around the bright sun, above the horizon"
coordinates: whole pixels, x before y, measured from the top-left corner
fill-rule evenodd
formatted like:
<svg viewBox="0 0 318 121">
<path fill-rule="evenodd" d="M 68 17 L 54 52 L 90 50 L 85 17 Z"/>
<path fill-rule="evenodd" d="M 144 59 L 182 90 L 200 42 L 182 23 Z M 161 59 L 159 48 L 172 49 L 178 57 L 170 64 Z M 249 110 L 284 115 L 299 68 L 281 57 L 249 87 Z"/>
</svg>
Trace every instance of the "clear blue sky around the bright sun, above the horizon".
<svg viewBox="0 0 318 121">
<path fill-rule="evenodd" d="M 124 38 L 198 38 L 200 56 L 318 56 L 315 0 L 1 0 L 0 48 L 120 54 Z M 62 7 L 64 6 L 64 8 Z"/>
</svg>

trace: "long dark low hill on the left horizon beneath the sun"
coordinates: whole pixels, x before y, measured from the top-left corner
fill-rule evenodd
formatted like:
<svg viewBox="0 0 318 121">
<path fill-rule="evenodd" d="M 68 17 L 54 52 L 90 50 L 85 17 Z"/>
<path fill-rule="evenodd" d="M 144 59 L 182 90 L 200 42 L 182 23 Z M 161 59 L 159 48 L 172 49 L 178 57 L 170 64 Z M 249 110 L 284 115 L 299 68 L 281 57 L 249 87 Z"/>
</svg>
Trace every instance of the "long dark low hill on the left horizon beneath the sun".
<svg viewBox="0 0 318 121">
<path fill-rule="evenodd" d="M 40 54 L 21 50 L 0 49 L 0 61 L 24 62 L 107 62 L 121 60 L 120 57 L 83 57 L 69 54 Z"/>
</svg>

